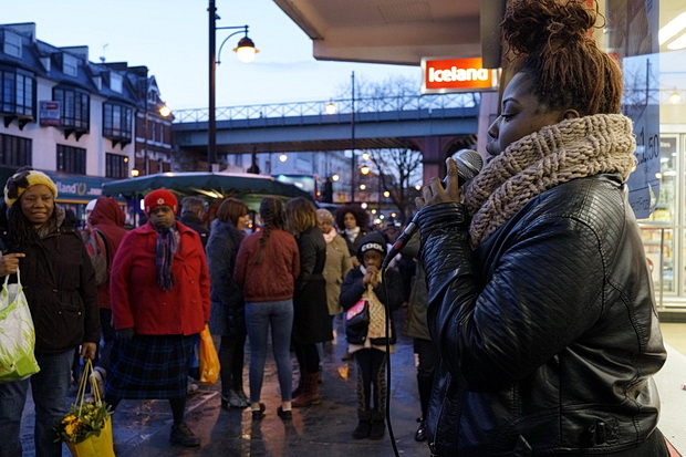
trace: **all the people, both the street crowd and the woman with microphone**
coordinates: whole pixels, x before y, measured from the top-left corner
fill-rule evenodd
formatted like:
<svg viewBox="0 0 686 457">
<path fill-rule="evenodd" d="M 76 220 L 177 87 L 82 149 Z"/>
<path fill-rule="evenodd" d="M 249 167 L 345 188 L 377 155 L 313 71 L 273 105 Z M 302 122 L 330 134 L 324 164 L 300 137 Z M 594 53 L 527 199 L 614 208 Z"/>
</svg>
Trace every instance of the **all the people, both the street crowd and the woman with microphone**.
<svg viewBox="0 0 686 457">
<path fill-rule="evenodd" d="M 157 189 L 144 200 L 147 221 L 126 232 L 116 201 L 95 204 L 87 230 L 104 237 L 111 263 L 108 285 L 97 285 L 54 183 L 20 169 L 4 187 L 0 274 L 21 270 L 41 371 L 0 383 L 0 457 L 21 455 L 29 388 L 37 455 L 61 455 L 52 426 L 65 413 L 74 351 L 97 359 L 94 377 L 113 408 L 166 398 L 170 442 L 199 446 L 185 404 L 207 323 L 220 339 L 221 406 L 250 407 L 253 420 L 264 416 L 271 332 L 277 414 L 289 420 L 293 407 L 321 403 L 319 347 L 341 314 L 357 372 L 352 437 L 380 439 L 393 311 L 404 302 L 418 355 L 415 439 L 430 436 L 433 456 L 668 456 L 653 380 L 666 351 L 626 198 L 635 138 L 620 112 L 621 70 L 589 34 L 597 11 L 588 3 L 508 2 L 489 158 L 467 184 L 448 158 L 447 179 L 422 189 L 418 236 L 401 252 L 417 258 L 409 269 L 397 262 L 382 274 L 397 230 L 370 228 L 358 206 L 332 215 L 268 197 L 260 230 L 246 235 L 240 200 L 221 202 L 208 225 L 202 200 L 178 214 L 175 195 Z"/>
</svg>

